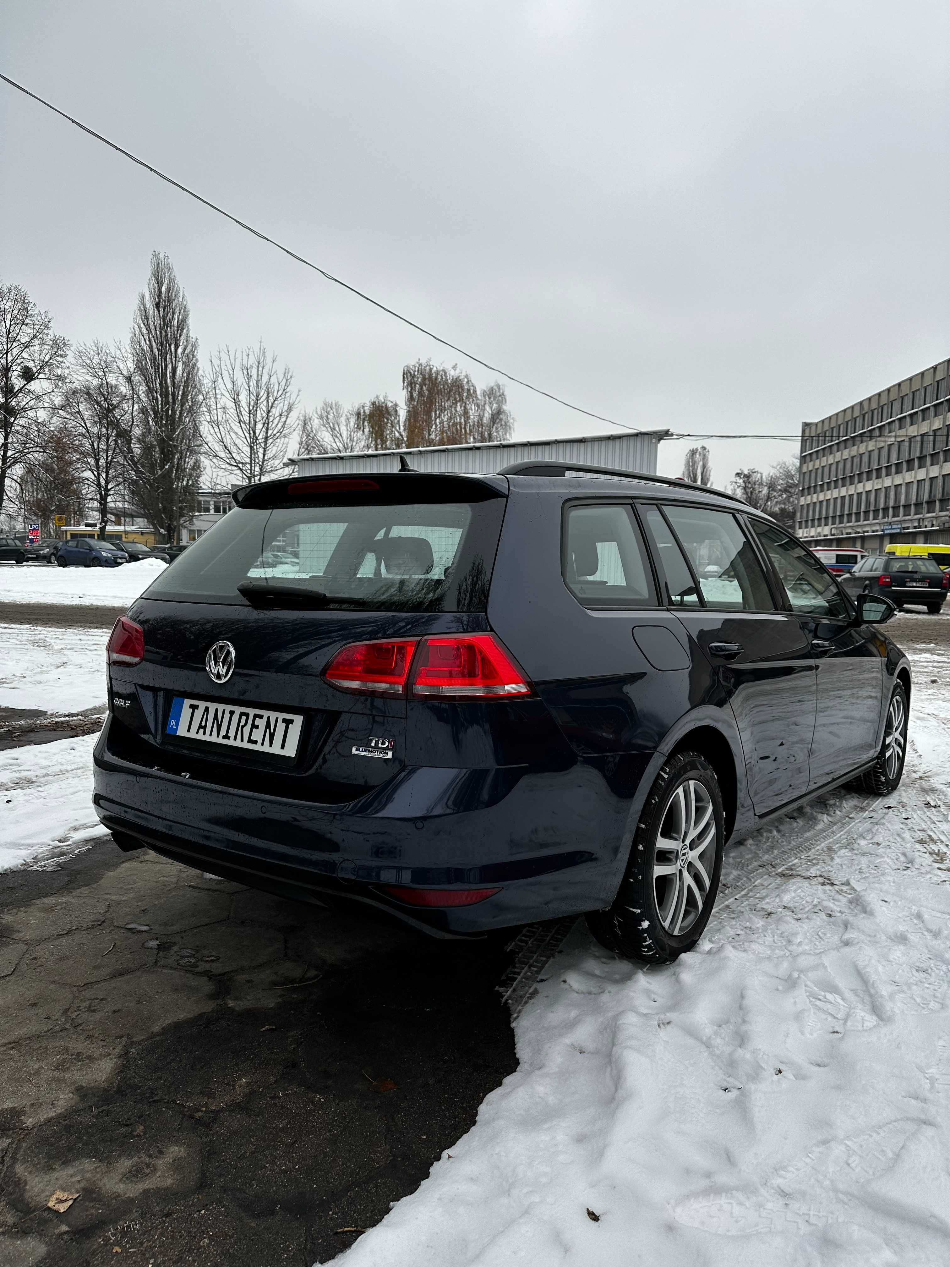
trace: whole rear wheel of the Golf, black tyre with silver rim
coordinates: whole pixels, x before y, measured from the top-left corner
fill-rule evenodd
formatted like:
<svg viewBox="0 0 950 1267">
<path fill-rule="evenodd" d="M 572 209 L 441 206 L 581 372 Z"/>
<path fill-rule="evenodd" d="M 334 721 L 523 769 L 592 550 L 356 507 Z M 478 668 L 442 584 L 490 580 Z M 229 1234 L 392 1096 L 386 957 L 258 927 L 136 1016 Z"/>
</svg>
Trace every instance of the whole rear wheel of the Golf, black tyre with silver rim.
<svg viewBox="0 0 950 1267">
<path fill-rule="evenodd" d="M 716 902 L 725 843 L 712 765 L 698 753 L 671 756 L 646 798 L 617 897 L 586 917 L 600 945 L 641 963 L 692 950 Z"/>
</svg>

